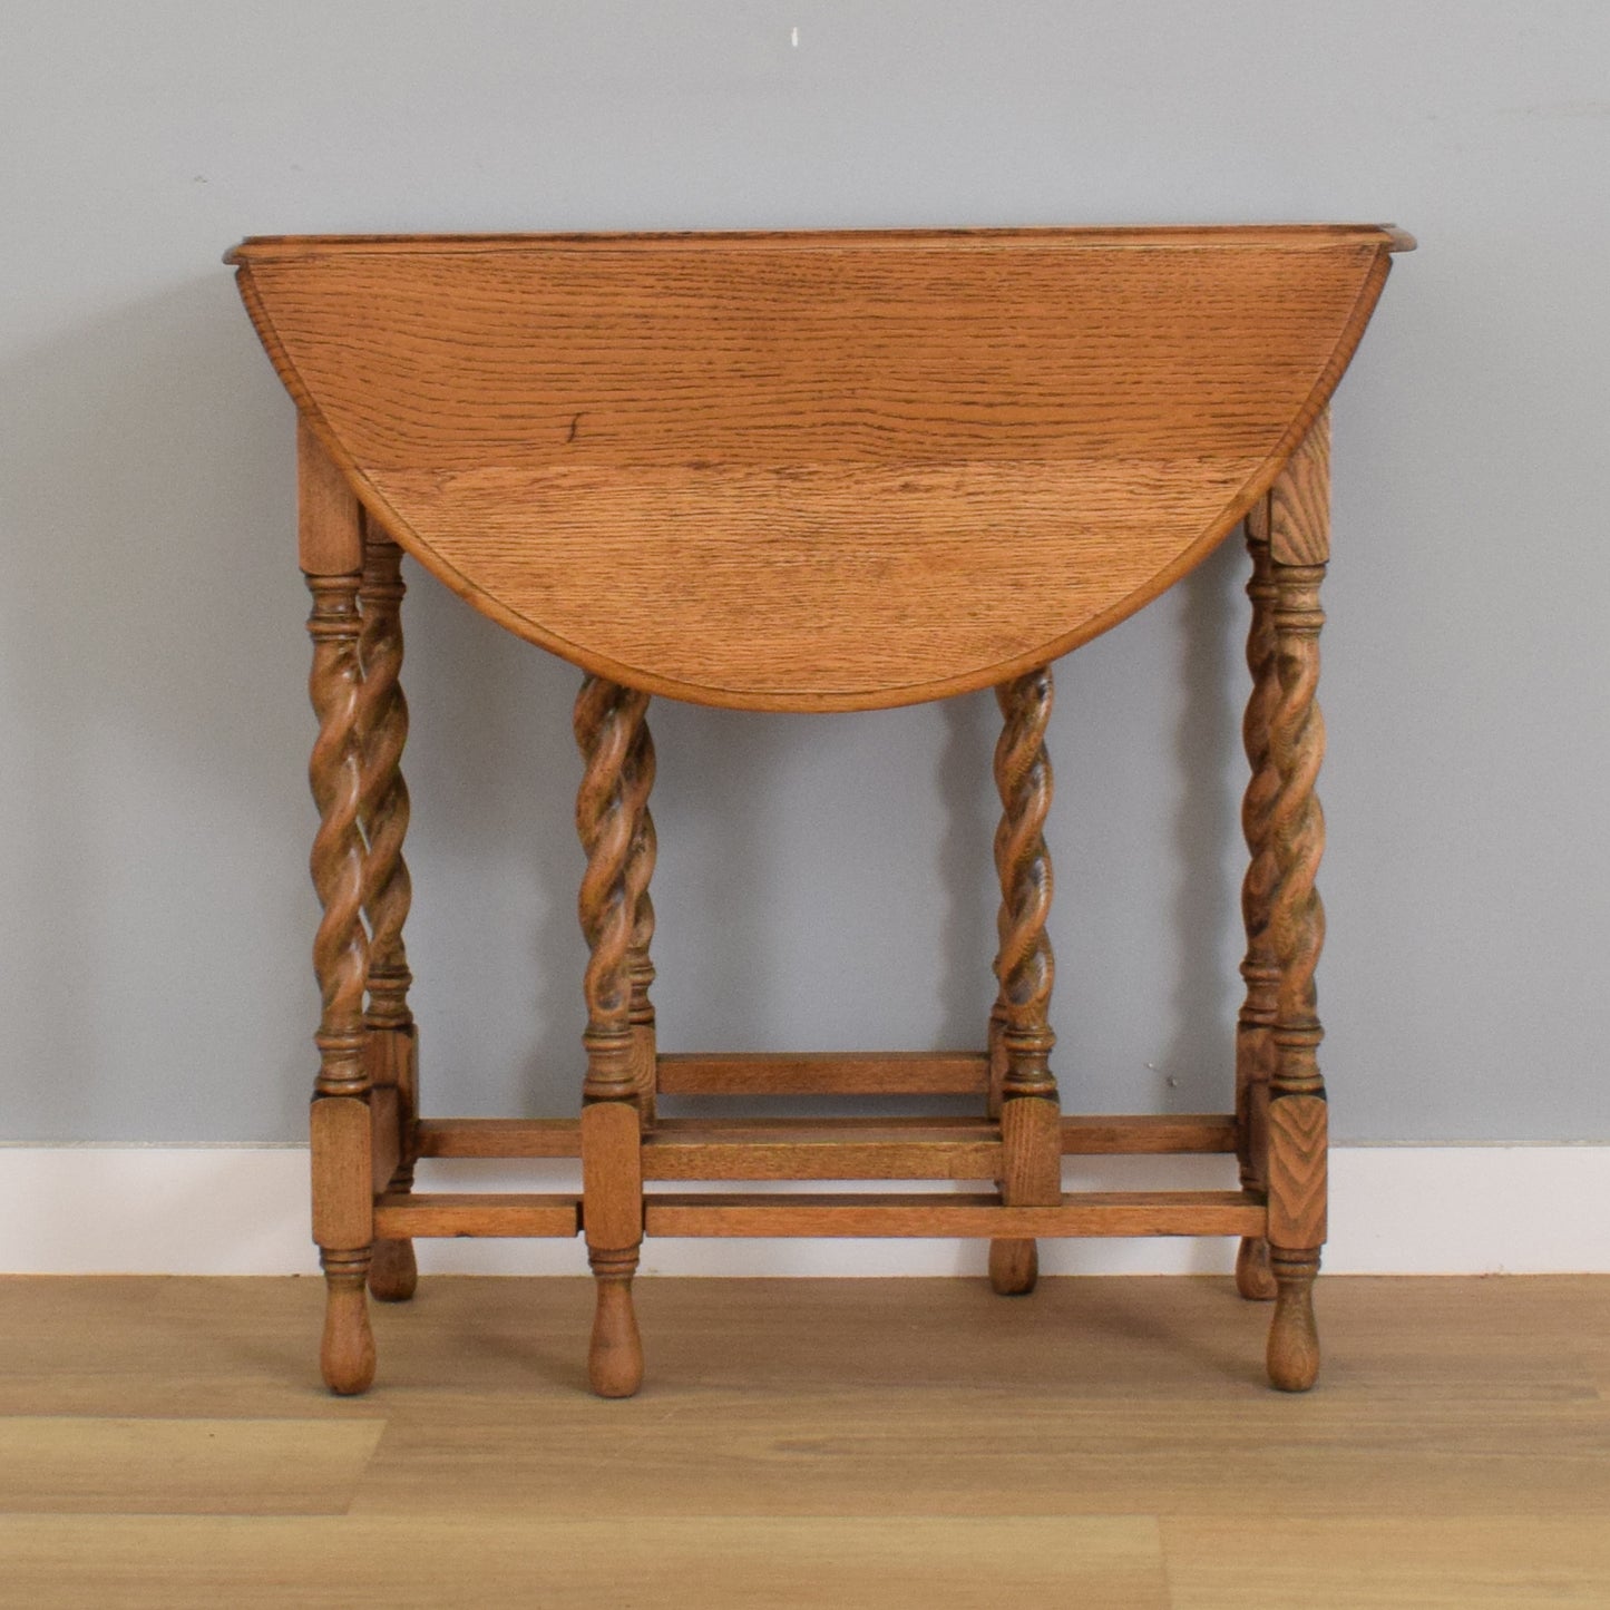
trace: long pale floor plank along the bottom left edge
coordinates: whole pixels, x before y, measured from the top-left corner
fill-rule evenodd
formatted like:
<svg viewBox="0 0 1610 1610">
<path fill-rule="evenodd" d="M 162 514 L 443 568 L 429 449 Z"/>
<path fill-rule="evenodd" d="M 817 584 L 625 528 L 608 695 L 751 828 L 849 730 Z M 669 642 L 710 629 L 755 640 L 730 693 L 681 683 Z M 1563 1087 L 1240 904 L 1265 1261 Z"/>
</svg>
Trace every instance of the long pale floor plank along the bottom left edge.
<svg viewBox="0 0 1610 1610">
<path fill-rule="evenodd" d="M 1169 1610 L 1158 1525 L 1084 1520 L 0 1518 L 27 1610 Z"/>
</svg>

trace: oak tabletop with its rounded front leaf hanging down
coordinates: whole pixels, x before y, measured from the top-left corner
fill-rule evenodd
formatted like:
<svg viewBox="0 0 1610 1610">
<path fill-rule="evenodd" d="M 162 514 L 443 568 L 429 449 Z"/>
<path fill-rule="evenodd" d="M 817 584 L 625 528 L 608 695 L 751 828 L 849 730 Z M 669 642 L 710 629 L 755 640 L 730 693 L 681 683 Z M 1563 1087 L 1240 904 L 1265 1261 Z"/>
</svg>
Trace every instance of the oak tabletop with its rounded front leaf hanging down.
<svg viewBox="0 0 1610 1610">
<path fill-rule="evenodd" d="M 230 261 L 311 428 L 449 586 L 596 675 L 803 710 L 995 684 L 1154 597 L 1267 488 L 1406 243 L 303 237 Z"/>
</svg>

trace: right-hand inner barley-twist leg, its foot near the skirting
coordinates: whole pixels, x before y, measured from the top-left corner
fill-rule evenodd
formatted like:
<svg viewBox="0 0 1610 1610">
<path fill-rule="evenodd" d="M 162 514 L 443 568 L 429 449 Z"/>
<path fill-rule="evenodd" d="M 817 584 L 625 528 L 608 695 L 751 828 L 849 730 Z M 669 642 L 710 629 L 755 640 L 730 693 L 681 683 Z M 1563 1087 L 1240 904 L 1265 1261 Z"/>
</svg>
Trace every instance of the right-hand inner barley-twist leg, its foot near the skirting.
<svg viewBox="0 0 1610 1610">
<path fill-rule="evenodd" d="M 1045 919 L 1051 910 L 1051 857 L 1045 818 L 1051 808 L 1051 762 L 1045 729 L 1051 718 L 1051 670 L 1042 667 L 1003 683 L 995 696 L 1005 716 L 995 745 L 1001 821 L 995 869 L 1001 884 L 1000 993 L 992 1018 L 992 1063 L 1000 1061 L 1001 1201 L 1051 1208 L 1063 1199 L 1063 1125 L 1051 1077 L 1050 1005 L 1055 963 Z M 993 1080 L 992 1080 L 993 1082 Z M 1032 1240 L 990 1243 L 990 1285 L 1003 1296 L 1032 1291 L 1038 1253 Z"/>
</svg>

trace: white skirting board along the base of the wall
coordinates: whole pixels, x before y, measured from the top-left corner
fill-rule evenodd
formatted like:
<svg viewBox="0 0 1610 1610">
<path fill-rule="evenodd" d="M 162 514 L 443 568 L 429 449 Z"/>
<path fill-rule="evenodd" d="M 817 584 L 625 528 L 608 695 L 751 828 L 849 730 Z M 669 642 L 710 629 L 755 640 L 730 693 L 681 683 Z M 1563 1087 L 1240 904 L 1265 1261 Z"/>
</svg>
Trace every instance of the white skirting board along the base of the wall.
<svg viewBox="0 0 1610 1610">
<path fill-rule="evenodd" d="M 1228 1158 L 1067 1159 L 1069 1190 L 1230 1188 Z M 573 1162 L 440 1161 L 423 1190 L 578 1188 Z M 675 1187 L 655 1187 L 668 1190 Z M 715 1190 L 696 1185 L 694 1190 Z M 757 1187 L 741 1187 L 755 1190 Z M 774 1190 L 860 1187 L 778 1185 Z M 935 1190 L 877 1183 L 866 1190 Z M 966 1187 L 958 1187 L 966 1188 Z M 977 1187 L 972 1187 L 974 1190 Z M 1224 1274 L 1227 1240 L 1042 1241 L 1056 1275 Z M 982 1241 L 655 1240 L 649 1275 L 976 1275 Z M 580 1275 L 575 1241 L 420 1241 L 427 1274 Z M 317 1272 L 303 1146 L 0 1146 L 0 1272 Z M 1610 1146 L 1331 1153 L 1325 1269 L 1343 1275 L 1610 1272 Z"/>
</svg>

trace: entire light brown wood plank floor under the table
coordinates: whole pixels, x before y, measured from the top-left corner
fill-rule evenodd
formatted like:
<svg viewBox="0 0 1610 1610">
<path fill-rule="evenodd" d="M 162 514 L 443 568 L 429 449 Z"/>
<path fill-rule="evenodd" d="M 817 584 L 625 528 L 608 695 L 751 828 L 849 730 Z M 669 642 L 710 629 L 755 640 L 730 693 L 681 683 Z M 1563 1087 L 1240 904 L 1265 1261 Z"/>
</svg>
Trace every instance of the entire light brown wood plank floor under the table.
<svg viewBox="0 0 1610 1610">
<path fill-rule="evenodd" d="M 0 1604 L 1610 1605 L 1610 1280 L 423 1282 L 328 1397 L 314 1280 L 0 1282 Z"/>
</svg>

